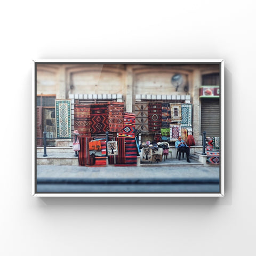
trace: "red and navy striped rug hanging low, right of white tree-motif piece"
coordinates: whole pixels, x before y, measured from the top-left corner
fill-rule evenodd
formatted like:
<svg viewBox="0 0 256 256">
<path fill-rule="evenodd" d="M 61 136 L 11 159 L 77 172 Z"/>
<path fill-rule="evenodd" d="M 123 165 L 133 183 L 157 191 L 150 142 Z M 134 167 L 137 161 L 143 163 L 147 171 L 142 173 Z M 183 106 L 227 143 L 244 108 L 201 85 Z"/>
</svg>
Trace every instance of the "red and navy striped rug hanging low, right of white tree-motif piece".
<svg viewBox="0 0 256 256">
<path fill-rule="evenodd" d="M 125 159 L 124 161 L 120 161 L 120 162 L 118 162 L 119 160 L 116 161 L 115 166 L 124 166 L 124 165 L 137 166 L 137 146 L 136 146 L 135 138 L 124 138 L 124 145 L 125 145 Z"/>
</svg>

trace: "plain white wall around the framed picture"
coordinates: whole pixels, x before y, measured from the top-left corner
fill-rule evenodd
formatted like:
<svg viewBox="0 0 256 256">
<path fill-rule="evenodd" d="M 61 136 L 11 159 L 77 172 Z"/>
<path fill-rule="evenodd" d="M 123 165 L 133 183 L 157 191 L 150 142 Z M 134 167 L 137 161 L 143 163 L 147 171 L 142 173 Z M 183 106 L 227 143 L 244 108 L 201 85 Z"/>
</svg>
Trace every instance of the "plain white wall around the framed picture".
<svg viewBox="0 0 256 256">
<path fill-rule="evenodd" d="M 4 1 L 0 254 L 253 255 L 253 2 Z M 31 60 L 113 58 L 225 59 L 225 197 L 31 197 Z"/>
</svg>

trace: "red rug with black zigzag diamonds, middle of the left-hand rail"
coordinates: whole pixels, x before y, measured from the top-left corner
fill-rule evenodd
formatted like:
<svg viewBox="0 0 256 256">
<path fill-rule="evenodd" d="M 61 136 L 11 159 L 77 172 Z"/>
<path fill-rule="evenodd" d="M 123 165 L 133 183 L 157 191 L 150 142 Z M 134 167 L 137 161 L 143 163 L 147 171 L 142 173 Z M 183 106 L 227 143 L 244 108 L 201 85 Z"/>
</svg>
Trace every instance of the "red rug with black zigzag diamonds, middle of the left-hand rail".
<svg viewBox="0 0 256 256">
<path fill-rule="evenodd" d="M 90 108 L 91 133 L 109 131 L 107 104 L 92 104 Z"/>
</svg>

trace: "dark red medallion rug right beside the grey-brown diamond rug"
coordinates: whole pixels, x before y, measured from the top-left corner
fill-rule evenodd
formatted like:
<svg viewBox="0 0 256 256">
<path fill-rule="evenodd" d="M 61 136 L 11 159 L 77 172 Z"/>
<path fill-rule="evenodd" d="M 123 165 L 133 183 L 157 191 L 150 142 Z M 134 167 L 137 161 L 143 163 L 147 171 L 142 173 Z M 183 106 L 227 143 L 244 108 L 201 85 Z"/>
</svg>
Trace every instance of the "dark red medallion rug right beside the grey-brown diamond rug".
<svg viewBox="0 0 256 256">
<path fill-rule="evenodd" d="M 149 133 L 160 132 L 162 125 L 162 103 L 148 103 L 148 130 Z"/>
</svg>

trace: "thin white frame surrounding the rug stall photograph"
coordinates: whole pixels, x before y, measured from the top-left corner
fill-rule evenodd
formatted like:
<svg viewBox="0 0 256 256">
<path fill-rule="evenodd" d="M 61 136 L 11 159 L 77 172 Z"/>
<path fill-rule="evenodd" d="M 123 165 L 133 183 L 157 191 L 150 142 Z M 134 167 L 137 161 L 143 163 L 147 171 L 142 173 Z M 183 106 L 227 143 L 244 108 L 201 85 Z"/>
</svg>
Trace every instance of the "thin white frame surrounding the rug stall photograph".
<svg viewBox="0 0 256 256">
<path fill-rule="evenodd" d="M 220 166 L 220 193 L 214 194 L 198 194 L 198 193 L 181 193 L 181 194 L 152 194 L 152 193 L 145 193 L 145 194 L 68 194 L 68 193 L 35 193 L 35 62 L 169 62 L 169 63 L 220 63 L 220 104 L 221 104 L 221 166 Z M 39 59 L 33 60 L 33 68 L 32 68 L 32 196 L 35 197 L 223 197 L 224 196 L 224 60 L 223 59 Z"/>
</svg>

